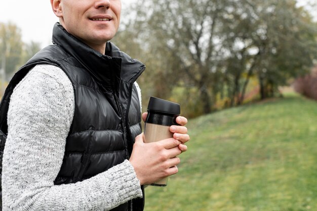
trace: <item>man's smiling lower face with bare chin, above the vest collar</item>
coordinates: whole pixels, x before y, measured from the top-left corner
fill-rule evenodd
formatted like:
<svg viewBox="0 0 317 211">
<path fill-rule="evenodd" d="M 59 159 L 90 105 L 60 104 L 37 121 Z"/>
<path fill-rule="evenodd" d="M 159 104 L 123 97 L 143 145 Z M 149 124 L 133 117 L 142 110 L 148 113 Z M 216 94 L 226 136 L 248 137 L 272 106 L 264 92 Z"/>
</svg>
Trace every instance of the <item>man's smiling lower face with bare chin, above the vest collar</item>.
<svg viewBox="0 0 317 211">
<path fill-rule="evenodd" d="M 91 47 L 104 45 L 118 30 L 121 0 L 51 0 L 51 3 L 62 26 Z"/>
</svg>

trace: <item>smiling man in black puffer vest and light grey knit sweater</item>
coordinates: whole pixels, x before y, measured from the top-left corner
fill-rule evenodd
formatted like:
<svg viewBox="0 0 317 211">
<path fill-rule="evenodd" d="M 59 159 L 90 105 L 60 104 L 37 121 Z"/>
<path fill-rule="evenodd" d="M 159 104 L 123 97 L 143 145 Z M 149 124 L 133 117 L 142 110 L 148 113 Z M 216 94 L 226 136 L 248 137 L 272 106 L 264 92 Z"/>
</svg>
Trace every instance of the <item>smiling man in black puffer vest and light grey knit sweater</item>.
<svg viewBox="0 0 317 211">
<path fill-rule="evenodd" d="M 3 209 L 143 210 L 143 185 L 178 171 L 187 120 L 174 138 L 143 142 L 135 81 L 145 67 L 108 42 L 120 0 L 51 5 L 54 45 L 19 70 L 0 108 L 9 106 Z"/>
</svg>

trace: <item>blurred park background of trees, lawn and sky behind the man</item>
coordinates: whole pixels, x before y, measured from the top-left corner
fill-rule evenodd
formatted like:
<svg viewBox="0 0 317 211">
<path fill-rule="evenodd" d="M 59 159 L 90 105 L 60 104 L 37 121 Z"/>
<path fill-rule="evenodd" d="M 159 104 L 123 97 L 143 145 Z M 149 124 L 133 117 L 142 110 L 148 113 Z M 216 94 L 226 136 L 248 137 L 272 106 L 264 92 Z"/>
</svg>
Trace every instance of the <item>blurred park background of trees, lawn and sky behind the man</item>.
<svg viewBox="0 0 317 211">
<path fill-rule="evenodd" d="M 150 96 L 181 104 L 188 151 L 145 210 L 317 210 L 317 2 L 122 1 L 112 40 Z M 49 1 L 0 7 L 1 93 L 50 44 Z"/>
</svg>

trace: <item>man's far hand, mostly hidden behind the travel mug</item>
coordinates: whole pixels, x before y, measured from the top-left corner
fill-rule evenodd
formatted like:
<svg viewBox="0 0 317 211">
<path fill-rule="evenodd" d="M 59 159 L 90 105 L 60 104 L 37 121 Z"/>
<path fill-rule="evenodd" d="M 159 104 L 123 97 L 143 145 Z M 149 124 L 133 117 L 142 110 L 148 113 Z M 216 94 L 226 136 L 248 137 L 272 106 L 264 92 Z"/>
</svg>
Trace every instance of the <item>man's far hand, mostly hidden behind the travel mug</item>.
<svg viewBox="0 0 317 211">
<path fill-rule="evenodd" d="M 145 122 L 146 120 L 146 117 L 147 117 L 147 113 L 143 113 L 142 114 L 142 119 L 143 121 Z M 187 124 L 187 119 L 185 117 L 177 117 L 176 118 L 176 123 L 179 124 L 178 125 L 172 125 L 170 127 L 170 131 L 172 133 L 174 133 L 173 137 L 176 139 L 176 140 L 179 140 L 181 143 L 178 145 L 178 148 L 184 152 L 184 151 L 187 151 L 187 146 L 184 145 L 187 141 L 189 141 L 190 137 L 189 135 L 187 134 L 187 128 L 184 127 L 186 124 Z"/>
</svg>

